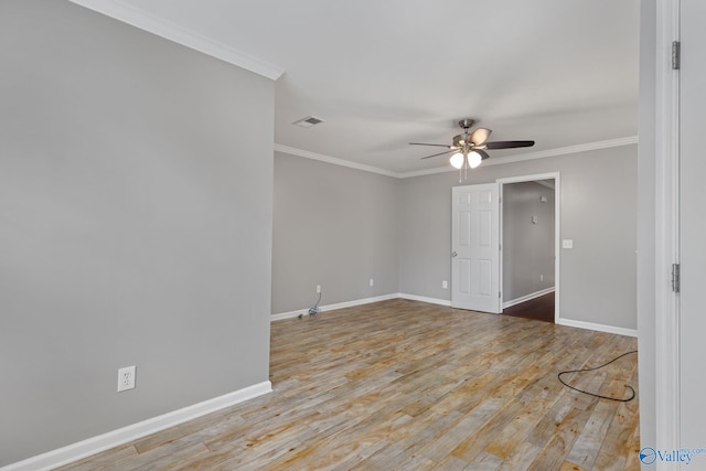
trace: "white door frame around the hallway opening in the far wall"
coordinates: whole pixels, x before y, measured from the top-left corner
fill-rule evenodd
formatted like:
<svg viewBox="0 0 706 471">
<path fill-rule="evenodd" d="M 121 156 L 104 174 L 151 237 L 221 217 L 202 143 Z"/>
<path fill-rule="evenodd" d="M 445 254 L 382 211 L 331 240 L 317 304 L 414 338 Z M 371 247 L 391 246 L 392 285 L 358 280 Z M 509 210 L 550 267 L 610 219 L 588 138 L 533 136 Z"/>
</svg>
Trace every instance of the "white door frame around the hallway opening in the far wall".
<svg viewBox="0 0 706 471">
<path fill-rule="evenodd" d="M 502 200 L 504 185 L 510 183 L 522 183 L 522 182 L 535 182 L 537 180 L 554 180 L 554 323 L 558 324 L 560 320 L 560 310 L 559 310 L 559 267 L 560 267 L 560 235 L 561 235 L 561 174 L 560 172 L 549 172 L 549 173 L 538 173 L 534 175 L 521 175 L 521 176 L 509 176 L 504 179 L 495 180 L 500 185 L 500 240 L 502 244 L 503 238 L 503 208 L 505 205 L 504 200 Z M 503 254 L 504 250 L 500 250 L 500 291 L 504 296 L 504 287 L 503 287 Z M 502 313 L 502 300 L 501 300 L 501 313 Z"/>
</svg>

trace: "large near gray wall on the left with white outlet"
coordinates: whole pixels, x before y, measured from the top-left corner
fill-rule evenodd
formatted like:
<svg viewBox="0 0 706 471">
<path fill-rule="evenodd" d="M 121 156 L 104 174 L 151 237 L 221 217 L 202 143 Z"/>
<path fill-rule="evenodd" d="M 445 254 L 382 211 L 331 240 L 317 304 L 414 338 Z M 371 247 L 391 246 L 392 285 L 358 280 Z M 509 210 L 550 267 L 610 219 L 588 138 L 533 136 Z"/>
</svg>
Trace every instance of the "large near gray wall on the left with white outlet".
<svg viewBox="0 0 706 471">
<path fill-rule="evenodd" d="M 266 382 L 274 83 L 65 1 L 0 44 L 0 465 Z"/>
</svg>

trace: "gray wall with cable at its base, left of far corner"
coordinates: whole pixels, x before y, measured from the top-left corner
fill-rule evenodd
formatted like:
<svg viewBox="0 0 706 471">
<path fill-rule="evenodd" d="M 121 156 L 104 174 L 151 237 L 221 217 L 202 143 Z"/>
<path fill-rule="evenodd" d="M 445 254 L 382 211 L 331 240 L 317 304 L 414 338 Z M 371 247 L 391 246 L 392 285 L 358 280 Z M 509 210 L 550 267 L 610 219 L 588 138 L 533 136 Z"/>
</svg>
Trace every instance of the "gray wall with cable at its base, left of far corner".
<svg viewBox="0 0 706 471">
<path fill-rule="evenodd" d="M 275 154 L 272 313 L 398 291 L 398 180 Z M 373 278 L 374 286 L 370 286 Z"/>
</svg>

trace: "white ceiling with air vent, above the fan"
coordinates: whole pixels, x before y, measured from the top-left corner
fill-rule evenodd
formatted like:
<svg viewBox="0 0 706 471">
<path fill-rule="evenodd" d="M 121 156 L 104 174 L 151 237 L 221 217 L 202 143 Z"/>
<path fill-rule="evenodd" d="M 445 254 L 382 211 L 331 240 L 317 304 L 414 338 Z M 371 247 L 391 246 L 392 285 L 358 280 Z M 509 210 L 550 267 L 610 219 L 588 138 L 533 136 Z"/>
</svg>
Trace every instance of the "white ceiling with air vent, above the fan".
<svg viewBox="0 0 706 471">
<path fill-rule="evenodd" d="M 464 117 L 536 141 L 491 159 L 638 135 L 639 0 L 74 1 L 278 77 L 275 143 L 293 153 L 448 168 L 408 142 L 450 143 Z M 292 125 L 309 115 L 325 122 Z"/>
</svg>

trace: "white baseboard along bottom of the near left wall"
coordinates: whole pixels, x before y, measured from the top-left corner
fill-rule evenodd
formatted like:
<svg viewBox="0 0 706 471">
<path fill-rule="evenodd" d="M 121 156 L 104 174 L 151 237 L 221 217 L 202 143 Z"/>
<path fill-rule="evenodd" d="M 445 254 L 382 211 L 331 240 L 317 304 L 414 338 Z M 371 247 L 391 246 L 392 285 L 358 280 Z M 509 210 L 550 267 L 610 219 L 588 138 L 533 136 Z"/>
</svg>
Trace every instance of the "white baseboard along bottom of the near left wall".
<svg viewBox="0 0 706 471">
<path fill-rule="evenodd" d="M 0 471 L 52 470 L 272 390 L 269 381 L 18 461 Z"/>
</svg>

